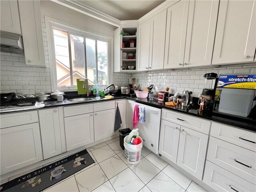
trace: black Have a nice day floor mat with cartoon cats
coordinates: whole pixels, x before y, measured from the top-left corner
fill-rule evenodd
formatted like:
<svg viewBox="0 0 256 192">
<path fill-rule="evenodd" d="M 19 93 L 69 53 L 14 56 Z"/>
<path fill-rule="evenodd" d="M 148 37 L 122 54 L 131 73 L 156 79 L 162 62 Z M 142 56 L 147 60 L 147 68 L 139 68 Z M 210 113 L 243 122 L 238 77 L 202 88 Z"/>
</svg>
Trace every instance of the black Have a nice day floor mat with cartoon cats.
<svg viewBox="0 0 256 192">
<path fill-rule="evenodd" d="M 0 186 L 5 192 L 40 192 L 86 168 L 94 160 L 86 150 L 34 170 Z"/>
</svg>

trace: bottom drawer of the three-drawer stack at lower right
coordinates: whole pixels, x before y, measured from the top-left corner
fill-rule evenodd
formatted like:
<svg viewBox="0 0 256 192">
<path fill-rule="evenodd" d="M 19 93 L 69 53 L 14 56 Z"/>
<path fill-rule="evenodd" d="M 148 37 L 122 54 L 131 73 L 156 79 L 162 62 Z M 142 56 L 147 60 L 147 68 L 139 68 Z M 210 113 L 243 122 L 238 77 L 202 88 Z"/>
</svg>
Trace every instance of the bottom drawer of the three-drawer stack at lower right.
<svg viewBox="0 0 256 192">
<path fill-rule="evenodd" d="M 256 191 L 254 184 L 209 161 L 206 161 L 203 182 L 216 191 Z"/>
</svg>

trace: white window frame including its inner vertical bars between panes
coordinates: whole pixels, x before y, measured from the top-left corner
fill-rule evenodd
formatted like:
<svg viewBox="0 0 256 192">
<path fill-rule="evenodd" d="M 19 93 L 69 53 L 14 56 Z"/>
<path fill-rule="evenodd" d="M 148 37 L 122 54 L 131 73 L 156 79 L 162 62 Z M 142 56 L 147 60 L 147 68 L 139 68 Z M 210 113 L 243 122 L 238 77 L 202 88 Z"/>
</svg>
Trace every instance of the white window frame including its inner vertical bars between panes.
<svg viewBox="0 0 256 192">
<path fill-rule="evenodd" d="M 77 91 L 77 88 L 74 86 L 66 86 L 66 87 L 58 87 L 57 83 L 57 70 L 56 70 L 56 57 L 55 57 L 55 45 L 54 45 L 54 34 L 53 29 L 60 29 L 68 32 L 68 39 L 70 38 L 70 34 L 74 35 L 83 35 L 84 40 L 86 38 L 90 38 L 93 40 L 108 42 L 108 84 L 113 83 L 113 68 L 114 68 L 114 50 L 113 50 L 113 43 L 114 38 L 112 36 L 107 36 L 105 34 L 101 34 L 99 32 L 90 31 L 84 28 L 80 28 L 78 26 L 74 26 L 72 24 L 68 24 L 65 22 L 62 22 L 60 20 L 56 20 L 53 18 L 49 18 L 45 16 L 45 24 L 46 24 L 46 36 L 47 36 L 47 46 L 48 46 L 48 56 L 49 56 L 49 66 L 50 66 L 50 80 L 51 80 L 51 89 L 52 92 L 56 90 L 69 92 L 69 91 Z M 69 41 L 69 40 L 68 40 Z M 68 46 L 70 46 L 70 43 L 68 42 Z M 85 46 L 85 61 L 86 61 L 86 44 Z M 70 50 L 70 47 L 69 47 Z M 69 55 L 70 55 L 69 51 Z M 97 55 L 97 54 L 96 54 Z M 72 58 L 70 58 L 72 59 Z M 96 62 L 97 63 L 97 62 Z M 96 67 L 98 66 L 98 63 L 96 64 Z M 70 68 L 70 71 L 72 68 Z M 70 73 L 71 74 L 71 73 Z M 87 64 L 85 65 L 85 74 L 87 75 Z M 98 76 L 98 74 L 97 74 Z M 72 76 L 70 75 L 70 80 L 72 79 Z"/>
</svg>

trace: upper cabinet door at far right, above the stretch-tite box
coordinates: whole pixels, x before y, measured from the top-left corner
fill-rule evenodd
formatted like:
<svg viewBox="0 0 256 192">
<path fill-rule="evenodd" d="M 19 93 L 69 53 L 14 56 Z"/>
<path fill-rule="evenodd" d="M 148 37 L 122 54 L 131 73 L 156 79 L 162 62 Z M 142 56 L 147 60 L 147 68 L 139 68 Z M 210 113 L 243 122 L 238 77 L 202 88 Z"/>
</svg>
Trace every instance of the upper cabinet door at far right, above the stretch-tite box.
<svg viewBox="0 0 256 192">
<path fill-rule="evenodd" d="M 253 61 L 256 1 L 221 0 L 212 64 Z"/>
</svg>

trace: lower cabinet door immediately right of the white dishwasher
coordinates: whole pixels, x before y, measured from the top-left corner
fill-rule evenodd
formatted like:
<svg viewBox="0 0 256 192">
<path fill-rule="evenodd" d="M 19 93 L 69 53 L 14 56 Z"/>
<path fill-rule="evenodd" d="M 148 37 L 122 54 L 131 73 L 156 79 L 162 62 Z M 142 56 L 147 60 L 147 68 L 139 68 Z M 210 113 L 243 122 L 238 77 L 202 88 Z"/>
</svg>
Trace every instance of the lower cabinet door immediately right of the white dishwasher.
<svg viewBox="0 0 256 192">
<path fill-rule="evenodd" d="M 180 125 L 161 120 L 158 152 L 174 163 L 177 162 L 179 137 Z"/>
</svg>

